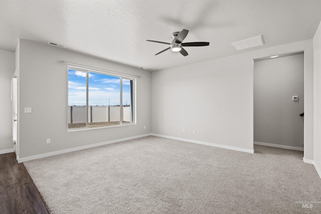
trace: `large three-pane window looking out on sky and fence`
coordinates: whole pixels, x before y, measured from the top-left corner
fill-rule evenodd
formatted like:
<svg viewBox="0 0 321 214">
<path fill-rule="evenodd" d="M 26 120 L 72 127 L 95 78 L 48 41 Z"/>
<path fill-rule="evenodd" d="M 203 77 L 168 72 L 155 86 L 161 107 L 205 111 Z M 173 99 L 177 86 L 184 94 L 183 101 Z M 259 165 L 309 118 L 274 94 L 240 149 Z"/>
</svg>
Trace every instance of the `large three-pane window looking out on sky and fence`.
<svg viewBox="0 0 321 214">
<path fill-rule="evenodd" d="M 68 129 L 134 123 L 130 77 L 68 66 Z"/>
</svg>

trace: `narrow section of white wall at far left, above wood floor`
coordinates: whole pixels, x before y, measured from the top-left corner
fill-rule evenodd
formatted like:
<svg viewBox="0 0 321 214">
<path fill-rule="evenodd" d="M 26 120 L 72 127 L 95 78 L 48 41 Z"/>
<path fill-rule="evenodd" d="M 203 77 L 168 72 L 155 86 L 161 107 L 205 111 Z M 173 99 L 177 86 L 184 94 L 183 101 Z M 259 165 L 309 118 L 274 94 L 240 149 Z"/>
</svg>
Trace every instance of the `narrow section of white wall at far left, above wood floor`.
<svg viewBox="0 0 321 214">
<path fill-rule="evenodd" d="M 15 53 L 0 50 L 0 154 L 13 152 L 11 79 L 15 72 Z"/>
</svg>

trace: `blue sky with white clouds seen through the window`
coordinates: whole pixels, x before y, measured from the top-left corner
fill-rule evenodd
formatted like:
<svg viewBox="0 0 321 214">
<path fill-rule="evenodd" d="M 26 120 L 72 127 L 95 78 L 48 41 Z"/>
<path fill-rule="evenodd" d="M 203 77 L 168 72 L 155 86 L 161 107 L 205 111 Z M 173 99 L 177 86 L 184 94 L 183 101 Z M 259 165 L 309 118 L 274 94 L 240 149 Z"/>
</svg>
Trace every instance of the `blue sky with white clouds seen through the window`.
<svg viewBox="0 0 321 214">
<path fill-rule="evenodd" d="M 88 105 L 120 104 L 120 78 L 89 72 Z M 122 80 L 123 105 L 130 104 L 130 81 Z M 86 105 L 86 72 L 68 70 L 68 105 Z"/>
</svg>

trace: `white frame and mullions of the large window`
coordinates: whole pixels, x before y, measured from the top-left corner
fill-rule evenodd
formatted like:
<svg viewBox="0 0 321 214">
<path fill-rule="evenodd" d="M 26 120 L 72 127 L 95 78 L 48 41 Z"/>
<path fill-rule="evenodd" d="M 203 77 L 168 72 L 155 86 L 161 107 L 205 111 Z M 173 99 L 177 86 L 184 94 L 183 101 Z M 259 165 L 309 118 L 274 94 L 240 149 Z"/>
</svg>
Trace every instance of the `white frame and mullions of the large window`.
<svg viewBox="0 0 321 214">
<path fill-rule="evenodd" d="M 68 127 L 68 121 L 69 121 L 69 117 L 70 117 L 70 113 L 69 113 L 69 70 L 76 70 L 76 71 L 80 71 L 80 72 L 86 72 L 86 126 L 85 127 L 80 127 L 80 128 L 69 128 Z M 117 126 L 128 126 L 128 125 L 135 125 L 136 124 L 136 78 L 130 77 L 130 75 L 119 75 L 119 74 L 115 74 L 112 72 L 107 72 L 107 71 L 99 71 L 100 69 L 91 69 L 91 68 L 86 68 L 85 66 L 83 67 L 79 67 L 79 66 L 72 66 L 72 65 L 68 65 L 67 66 L 67 131 L 80 131 L 80 130 L 90 130 L 90 129 L 101 129 L 101 128 L 109 128 L 109 127 L 117 127 Z M 88 113 L 88 109 L 89 109 L 89 73 L 97 73 L 97 74 L 103 74 L 103 75 L 108 75 L 108 76 L 112 76 L 112 77 L 117 77 L 119 78 L 119 95 L 120 95 L 120 100 L 119 100 L 119 111 L 120 111 L 120 118 L 119 118 L 119 124 L 116 125 L 105 125 L 105 126 L 97 126 L 97 127 L 89 127 L 88 126 L 88 117 L 89 117 L 89 113 Z M 132 122 L 129 123 L 123 123 L 123 111 L 122 111 L 122 107 L 123 107 L 123 93 L 122 93 L 122 87 L 123 87 L 123 80 L 129 80 L 132 81 L 132 98 L 130 101 L 132 101 L 132 105 L 131 106 L 131 115 L 132 115 Z"/>
</svg>

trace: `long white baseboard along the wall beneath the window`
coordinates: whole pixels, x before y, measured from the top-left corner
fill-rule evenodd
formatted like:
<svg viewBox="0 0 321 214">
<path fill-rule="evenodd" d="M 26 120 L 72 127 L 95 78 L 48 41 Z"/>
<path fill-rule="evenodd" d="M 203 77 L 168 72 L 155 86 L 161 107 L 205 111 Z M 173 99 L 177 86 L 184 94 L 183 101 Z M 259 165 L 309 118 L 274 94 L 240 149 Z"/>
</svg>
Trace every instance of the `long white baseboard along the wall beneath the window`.
<svg viewBox="0 0 321 214">
<path fill-rule="evenodd" d="M 39 159 L 39 158 L 43 158 L 43 157 L 54 156 L 57 154 L 64 154 L 64 153 L 68 153 L 68 152 L 79 151 L 79 150 L 93 148 L 93 147 L 97 147 L 97 146 L 103 146 L 103 145 L 107 145 L 107 144 L 111 144 L 111 143 L 118 143 L 118 142 L 125 141 L 125 140 L 132 140 L 132 139 L 136 139 L 139 137 L 146 137 L 149 135 L 150 134 L 143 134 L 143 135 L 137 135 L 137 136 L 133 136 L 133 137 L 126 137 L 126 138 L 121 138 L 121 139 L 117 139 L 117 140 L 110 140 L 110 141 L 106 141 L 106 142 L 95 143 L 95 144 L 90 144 L 90 145 L 86 145 L 86 146 L 79 146 L 79 147 L 75 147 L 75 148 L 64 149 L 64 150 L 59 150 L 59 151 L 54 151 L 54 152 L 48 152 L 48 153 L 44 153 L 44 154 L 23 157 L 23 158 L 19 158 L 17 156 L 17 160 L 18 160 L 18 163 L 22 163 L 22 162 L 29 161 L 29 160 L 35 160 L 35 159 Z"/>
</svg>

